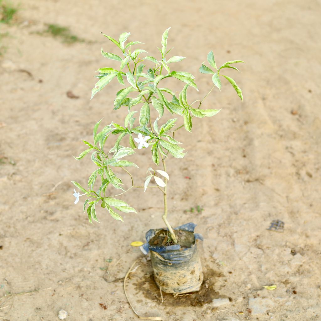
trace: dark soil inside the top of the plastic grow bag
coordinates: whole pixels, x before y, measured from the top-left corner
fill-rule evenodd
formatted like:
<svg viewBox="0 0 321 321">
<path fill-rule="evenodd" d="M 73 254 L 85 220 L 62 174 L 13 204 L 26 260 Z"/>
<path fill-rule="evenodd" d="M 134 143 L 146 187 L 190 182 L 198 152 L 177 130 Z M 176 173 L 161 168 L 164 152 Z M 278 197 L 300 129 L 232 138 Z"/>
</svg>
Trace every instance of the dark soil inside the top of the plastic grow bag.
<svg viewBox="0 0 321 321">
<path fill-rule="evenodd" d="M 194 233 L 184 230 L 174 230 L 178 244 L 181 247 L 191 247 L 195 243 Z M 150 239 L 151 246 L 169 246 L 174 245 L 168 230 L 159 230 L 156 235 Z"/>
</svg>

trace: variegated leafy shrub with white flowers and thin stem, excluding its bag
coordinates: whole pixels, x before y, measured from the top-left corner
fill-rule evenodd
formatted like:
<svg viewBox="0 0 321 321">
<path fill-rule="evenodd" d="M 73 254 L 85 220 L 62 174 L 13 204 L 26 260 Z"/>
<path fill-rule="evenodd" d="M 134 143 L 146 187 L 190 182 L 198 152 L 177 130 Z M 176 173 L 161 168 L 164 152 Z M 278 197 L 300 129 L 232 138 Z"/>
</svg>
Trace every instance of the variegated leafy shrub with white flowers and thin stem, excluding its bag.
<svg viewBox="0 0 321 321">
<path fill-rule="evenodd" d="M 224 77 L 233 86 L 240 99 L 243 100 L 242 91 L 236 82 L 225 75 L 221 75 L 220 72 L 224 68 L 232 68 L 239 71 L 236 67 L 232 66 L 235 63 L 242 63 L 241 60 L 228 61 L 221 65 L 219 68 L 216 66 L 213 51 L 210 51 L 207 55 L 207 61 L 211 68 L 204 65 L 199 68 L 199 71 L 203 74 L 210 74 L 212 76 L 213 87 L 205 95 L 202 100 L 195 100 L 190 103 L 187 99 L 187 91 L 193 88 L 198 91 L 195 83 L 195 77 L 185 71 L 174 71 L 171 67 L 174 63 L 178 63 L 185 59 L 182 56 L 172 56 L 167 59 L 167 55 L 171 49 L 167 50 L 167 39 L 169 29 L 163 33 L 160 59 L 156 59 L 152 56 L 145 56 L 141 58 L 143 53 L 146 53 L 143 49 L 132 50 L 132 46 L 141 44 L 140 41 L 131 41 L 126 45 L 129 32 L 124 32 L 120 35 L 119 40 L 105 35 L 111 42 L 113 42 L 121 51 L 121 56 L 114 53 L 105 52 L 101 49 L 102 56 L 116 60 L 120 63 L 118 69 L 111 67 L 104 67 L 97 70 L 99 73 L 95 77 L 98 78 L 98 82 L 91 91 L 91 99 L 101 91 L 109 82 L 114 78 L 124 86 L 124 89 L 119 90 L 116 93 L 114 100 L 114 109 L 127 108 L 128 114 L 124 120 L 124 124 L 120 125 L 111 122 L 109 125 L 104 126 L 100 132 L 98 132 L 98 126 L 101 120 L 94 126 L 93 130 L 93 142 L 83 141 L 88 147 L 85 151 L 80 153 L 76 160 L 81 160 L 85 155 L 91 153 L 91 160 L 97 165 L 97 169 L 92 172 L 88 180 L 87 188 L 82 187 L 79 183 L 73 181 L 75 187 L 82 191 L 82 195 L 86 195 L 88 198 L 83 204 L 83 211 L 86 211 L 89 221 L 98 221 L 96 216 L 95 206 L 100 204 L 105 208 L 109 214 L 115 219 L 123 221 L 123 218 L 118 212 L 134 212 L 135 209 L 129 206 L 126 202 L 117 199 L 120 196 L 128 192 L 131 188 L 143 188 L 146 191 L 147 188 L 156 187 L 160 189 L 163 194 L 164 200 L 164 213 L 162 219 L 165 222 L 172 241 L 176 244 L 177 238 L 174 230 L 172 229 L 169 221 L 167 220 L 168 208 L 167 208 L 167 182 L 169 181 L 169 175 L 167 173 L 166 162 L 169 156 L 175 158 L 183 158 L 184 148 L 181 147 L 181 143 L 174 137 L 175 133 L 185 128 L 187 132 L 192 132 L 192 119 L 193 117 L 211 117 L 216 115 L 221 109 L 201 109 L 204 100 L 217 87 L 221 90 L 221 78 Z M 145 63 L 149 63 L 150 67 L 146 67 Z M 146 71 L 145 70 L 146 67 Z M 127 69 L 127 71 L 123 71 Z M 162 87 L 160 84 L 164 83 L 167 78 L 174 78 L 178 81 L 185 83 L 182 91 L 177 95 L 171 89 Z M 193 107 L 194 104 L 198 104 L 197 107 Z M 139 117 L 135 117 L 138 112 L 134 110 L 139 106 Z M 158 116 L 152 119 L 151 108 L 154 108 Z M 171 118 L 168 121 L 160 124 L 161 117 L 164 112 L 177 115 L 183 121 L 182 125 L 177 125 L 178 117 Z M 138 124 L 137 124 L 138 123 Z M 117 135 L 117 140 L 114 146 L 106 146 L 108 137 L 111 135 Z M 138 136 L 138 137 L 137 137 Z M 134 137 L 134 138 L 133 138 Z M 128 138 L 128 144 L 130 147 L 121 145 L 124 144 L 125 138 Z M 138 146 L 136 146 L 138 143 Z M 111 148 L 110 148 L 111 147 Z M 162 163 L 163 169 L 147 169 L 147 177 L 144 186 L 137 186 L 134 184 L 134 178 L 127 170 L 128 167 L 137 167 L 136 164 L 129 160 L 124 160 L 125 157 L 135 153 L 135 150 L 139 152 L 142 148 L 150 148 L 152 161 L 158 166 Z M 117 176 L 115 169 L 121 169 L 125 171 L 131 179 L 131 187 L 126 190 L 122 187 L 124 184 L 122 180 Z M 99 178 L 99 183 L 95 188 L 96 180 Z M 151 180 L 156 183 L 155 186 L 149 186 Z M 121 192 L 116 195 L 112 195 L 110 189 L 116 188 Z M 76 192 L 74 189 L 74 196 L 76 197 L 75 204 L 78 203 L 80 192 Z M 196 210 L 200 213 L 203 209 L 200 206 L 196 207 Z"/>
</svg>

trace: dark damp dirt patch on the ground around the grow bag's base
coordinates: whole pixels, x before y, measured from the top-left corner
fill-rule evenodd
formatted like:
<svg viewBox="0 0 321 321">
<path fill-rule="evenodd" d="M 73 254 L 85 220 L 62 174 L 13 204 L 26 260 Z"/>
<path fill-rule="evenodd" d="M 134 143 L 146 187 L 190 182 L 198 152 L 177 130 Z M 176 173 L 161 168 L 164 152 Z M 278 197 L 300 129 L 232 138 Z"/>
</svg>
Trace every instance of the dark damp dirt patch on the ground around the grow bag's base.
<svg viewBox="0 0 321 321">
<path fill-rule="evenodd" d="M 213 299 L 227 298 L 214 290 L 216 278 L 223 276 L 222 273 L 207 268 L 204 272 L 204 281 L 199 291 L 178 295 L 163 292 L 163 305 L 173 307 L 202 307 L 206 303 L 211 303 Z M 138 282 L 134 283 L 134 286 L 137 291 L 143 292 L 146 299 L 162 301 L 160 289 L 154 281 L 153 274 L 146 273 Z"/>
</svg>

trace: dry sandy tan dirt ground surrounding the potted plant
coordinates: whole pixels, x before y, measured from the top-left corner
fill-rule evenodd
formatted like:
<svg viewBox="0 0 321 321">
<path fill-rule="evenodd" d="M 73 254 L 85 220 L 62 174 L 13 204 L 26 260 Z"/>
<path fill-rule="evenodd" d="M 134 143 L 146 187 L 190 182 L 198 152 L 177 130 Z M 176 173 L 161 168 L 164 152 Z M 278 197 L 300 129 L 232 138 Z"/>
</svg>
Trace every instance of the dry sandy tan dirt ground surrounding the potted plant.
<svg viewBox="0 0 321 321">
<path fill-rule="evenodd" d="M 154 309 L 170 321 L 321 320 L 320 13 L 315 0 L 21 2 L 14 24 L 1 25 L 9 33 L 0 58 L 1 319 L 58 320 L 64 309 L 66 320 L 137 320 L 123 280 L 139 259 L 127 292 L 143 316 Z M 85 41 L 37 34 L 50 23 Z M 191 101 L 212 86 L 198 73 L 211 49 L 217 64 L 246 61 L 241 74 L 226 72 L 244 101 L 223 82 L 204 104 L 222 111 L 195 119 L 193 134 L 179 131 L 188 154 L 167 165 L 169 221 L 198 224 L 205 276 L 223 275 L 212 276 L 218 301 L 203 306 L 135 290 L 134 278 L 150 286 L 150 261 L 130 243 L 164 227 L 157 189 L 124 195 L 138 212 L 124 223 L 100 209 L 101 223 L 91 225 L 70 182 L 85 184 L 95 169 L 89 158 L 72 157 L 84 149 L 80 139 L 91 141 L 102 117 L 107 125 L 126 114 L 112 111 L 116 81 L 89 100 L 95 70 L 114 66 L 100 55 L 102 46 L 115 48 L 99 32 L 130 31 L 154 56 L 169 26 L 173 55 L 187 57 L 178 68 L 195 74 L 200 88 Z M 147 155 L 131 159 L 140 185 L 154 166 Z M 204 210 L 187 211 L 197 205 Z M 275 219 L 283 232 L 267 230 Z M 276 289 L 263 288 L 269 285 Z"/>
</svg>

